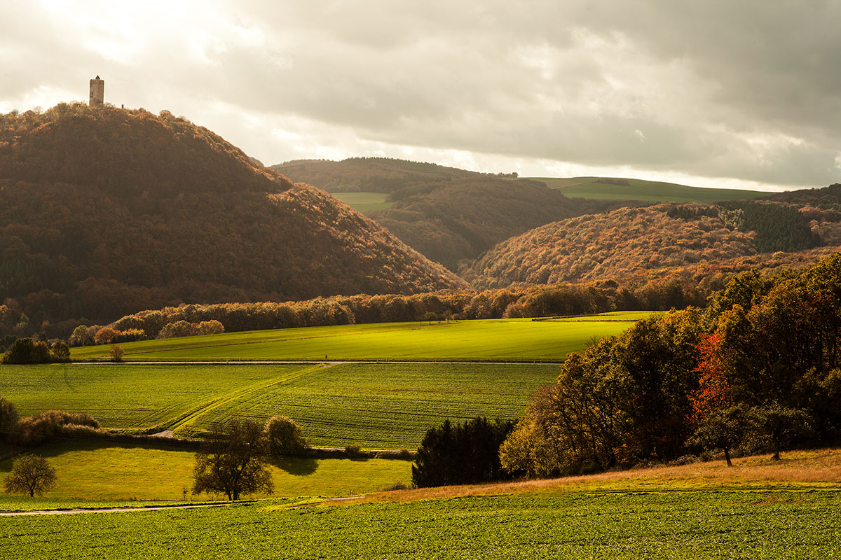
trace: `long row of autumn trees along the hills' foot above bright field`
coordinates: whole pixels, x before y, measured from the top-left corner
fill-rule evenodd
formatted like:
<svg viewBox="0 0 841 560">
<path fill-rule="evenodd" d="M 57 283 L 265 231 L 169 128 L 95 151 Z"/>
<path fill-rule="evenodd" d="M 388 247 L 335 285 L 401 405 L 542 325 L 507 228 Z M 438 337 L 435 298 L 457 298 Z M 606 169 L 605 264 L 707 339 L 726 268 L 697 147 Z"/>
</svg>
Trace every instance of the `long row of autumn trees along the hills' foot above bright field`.
<svg viewBox="0 0 841 560">
<path fill-rule="evenodd" d="M 177 330 L 177 325 L 186 327 L 185 323 L 201 332 L 202 325 L 216 325 L 218 322 L 225 332 L 236 332 L 430 318 L 551 317 L 603 311 L 668 310 L 706 301 L 706 293 L 690 284 L 690 280 L 669 279 L 642 286 L 622 286 L 606 280 L 586 285 L 521 286 L 479 292 L 439 291 L 412 296 L 362 294 L 282 303 L 188 304 L 127 315 L 109 325 L 107 332 L 143 332 L 148 338 L 161 338 L 165 333 Z M 102 328 L 77 327 L 71 343 L 96 342 L 96 332 Z M 96 332 L 92 334 L 92 330 Z"/>
</svg>

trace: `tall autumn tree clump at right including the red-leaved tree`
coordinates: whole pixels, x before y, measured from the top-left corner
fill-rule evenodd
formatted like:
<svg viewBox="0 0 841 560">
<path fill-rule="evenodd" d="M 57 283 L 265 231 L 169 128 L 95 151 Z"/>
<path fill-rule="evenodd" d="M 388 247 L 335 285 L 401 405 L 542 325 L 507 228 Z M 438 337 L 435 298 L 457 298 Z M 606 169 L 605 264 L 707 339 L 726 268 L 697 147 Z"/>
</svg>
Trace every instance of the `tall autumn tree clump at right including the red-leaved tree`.
<svg viewBox="0 0 841 560">
<path fill-rule="evenodd" d="M 841 254 L 748 272 L 690 308 L 572 353 L 500 448 L 547 476 L 841 438 Z"/>
</svg>

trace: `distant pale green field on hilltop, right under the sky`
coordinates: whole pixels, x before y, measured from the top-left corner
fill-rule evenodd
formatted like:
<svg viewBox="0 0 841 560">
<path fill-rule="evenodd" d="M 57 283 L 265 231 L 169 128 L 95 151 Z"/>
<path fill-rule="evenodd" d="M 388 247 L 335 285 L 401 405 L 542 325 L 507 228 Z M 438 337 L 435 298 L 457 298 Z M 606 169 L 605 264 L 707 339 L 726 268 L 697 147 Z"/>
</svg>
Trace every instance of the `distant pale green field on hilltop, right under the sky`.
<svg viewBox="0 0 841 560">
<path fill-rule="evenodd" d="M 628 185 L 597 183 L 600 177 L 530 177 L 542 181 L 550 188 L 558 189 L 564 196 L 595 198 L 598 200 L 625 200 L 650 202 L 717 202 L 733 201 L 768 196 L 763 191 L 743 191 L 736 189 L 707 189 L 698 186 L 676 185 L 643 179 L 625 179 Z"/>
</svg>

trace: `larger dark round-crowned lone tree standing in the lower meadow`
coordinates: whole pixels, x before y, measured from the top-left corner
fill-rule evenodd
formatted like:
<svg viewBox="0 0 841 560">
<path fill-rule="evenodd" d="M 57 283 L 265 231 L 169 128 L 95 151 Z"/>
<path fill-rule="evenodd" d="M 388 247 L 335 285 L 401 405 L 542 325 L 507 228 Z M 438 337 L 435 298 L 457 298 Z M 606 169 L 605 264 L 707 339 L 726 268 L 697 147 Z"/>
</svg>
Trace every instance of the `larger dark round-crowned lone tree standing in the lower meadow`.
<svg viewBox="0 0 841 560">
<path fill-rule="evenodd" d="M 272 494 L 266 467 L 267 444 L 257 422 L 233 419 L 214 424 L 193 468 L 193 493 L 220 493 L 228 500 L 263 491 Z"/>
</svg>

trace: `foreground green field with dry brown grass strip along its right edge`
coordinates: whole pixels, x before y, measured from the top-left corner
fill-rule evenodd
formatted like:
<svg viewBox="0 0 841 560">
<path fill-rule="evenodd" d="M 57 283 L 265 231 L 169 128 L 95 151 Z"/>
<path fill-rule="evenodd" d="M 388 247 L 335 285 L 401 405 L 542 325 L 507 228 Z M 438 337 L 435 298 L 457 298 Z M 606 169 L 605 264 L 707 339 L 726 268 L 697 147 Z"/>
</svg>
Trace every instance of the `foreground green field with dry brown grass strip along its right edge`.
<svg viewBox="0 0 841 560">
<path fill-rule="evenodd" d="M 705 465 L 632 472 L 657 480 L 656 491 L 606 474 L 598 483 L 606 489 L 562 480 L 315 507 L 267 501 L 0 518 L 0 547 L 7 557 L 80 558 L 832 558 L 841 540 L 839 457 L 790 458 L 796 473 L 824 463 L 822 486 L 775 479 L 785 467 L 751 458 L 733 469 L 706 463 L 709 473 Z M 690 484 L 704 479 L 707 488 Z M 761 489 L 740 488 L 741 479 Z"/>
</svg>

